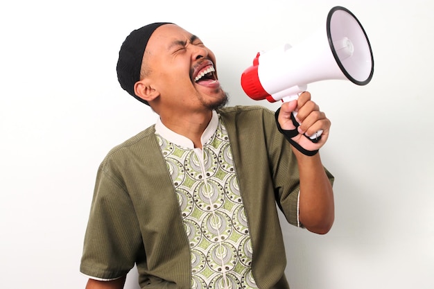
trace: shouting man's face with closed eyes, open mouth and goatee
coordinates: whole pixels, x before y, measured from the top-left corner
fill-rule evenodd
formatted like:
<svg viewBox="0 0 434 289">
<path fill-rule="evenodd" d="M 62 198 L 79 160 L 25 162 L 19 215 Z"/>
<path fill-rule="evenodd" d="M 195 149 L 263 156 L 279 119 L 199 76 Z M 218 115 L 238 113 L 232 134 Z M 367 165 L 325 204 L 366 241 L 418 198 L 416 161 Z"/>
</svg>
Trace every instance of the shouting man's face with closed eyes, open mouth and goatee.
<svg viewBox="0 0 434 289">
<path fill-rule="evenodd" d="M 217 78 L 214 53 L 179 26 L 157 28 L 146 46 L 144 61 L 148 78 L 159 91 L 161 107 L 203 110 L 227 102 Z"/>
</svg>

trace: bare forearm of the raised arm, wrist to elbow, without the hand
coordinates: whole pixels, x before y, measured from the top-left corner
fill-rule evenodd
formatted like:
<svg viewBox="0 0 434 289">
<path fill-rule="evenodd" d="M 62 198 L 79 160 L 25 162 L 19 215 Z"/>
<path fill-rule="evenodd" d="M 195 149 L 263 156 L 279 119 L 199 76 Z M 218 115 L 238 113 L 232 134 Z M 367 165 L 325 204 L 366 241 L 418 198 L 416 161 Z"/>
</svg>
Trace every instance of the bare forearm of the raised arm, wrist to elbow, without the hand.
<svg viewBox="0 0 434 289">
<path fill-rule="evenodd" d="M 317 234 L 326 234 L 334 221 L 333 189 L 320 159 L 294 152 L 300 170 L 300 222 Z"/>
</svg>

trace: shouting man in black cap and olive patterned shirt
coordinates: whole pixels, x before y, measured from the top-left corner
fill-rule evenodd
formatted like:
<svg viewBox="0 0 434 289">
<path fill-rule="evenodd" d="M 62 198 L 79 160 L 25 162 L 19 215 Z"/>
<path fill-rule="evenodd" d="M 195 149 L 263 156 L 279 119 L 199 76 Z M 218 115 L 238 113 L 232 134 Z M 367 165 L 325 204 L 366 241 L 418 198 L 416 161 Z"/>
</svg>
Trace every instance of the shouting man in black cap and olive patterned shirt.
<svg viewBox="0 0 434 289">
<path fill-rule="evenodd" d="M 318 234 L 334 219 L 333 177 L 318 153 L 330 121 L 310 94 L 276 114 L 224 107 L 214 54 L 168 23 L 134 30 L 117 71 L 159 120 L 98 170 L 80 265 L 86 288 L 123 288 L 134 264 L 141 288 L 288 288 L 276 204 Z M 304 135 L 318 130 L 316 143 Z"/>
</svg>

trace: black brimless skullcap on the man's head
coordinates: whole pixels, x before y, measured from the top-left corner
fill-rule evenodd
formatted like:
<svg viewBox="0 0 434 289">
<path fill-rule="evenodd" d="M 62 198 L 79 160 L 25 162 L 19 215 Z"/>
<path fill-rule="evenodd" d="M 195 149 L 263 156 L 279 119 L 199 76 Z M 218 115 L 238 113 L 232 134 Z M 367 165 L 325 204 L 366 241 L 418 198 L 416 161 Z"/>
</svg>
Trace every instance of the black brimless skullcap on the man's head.
<svg viewBox="0 0 434 289">
<path fill-rule="evenodd" d="M 134 94 L 134 84 L 140 80 L 141 61 L 143 60 L 150 35 L 154 33 L 155 29 L 164 24 L 171 23 L 157 22 L 133 30 L 132 33 L 125 38 L 121 50 L 119 51 L 119 60 L 116 65 L 119 83 L 128 94 L 131 94 L 142 103 L 146 103 L 146 105 L 149 105 L 146 100 Z"/>
</svg>

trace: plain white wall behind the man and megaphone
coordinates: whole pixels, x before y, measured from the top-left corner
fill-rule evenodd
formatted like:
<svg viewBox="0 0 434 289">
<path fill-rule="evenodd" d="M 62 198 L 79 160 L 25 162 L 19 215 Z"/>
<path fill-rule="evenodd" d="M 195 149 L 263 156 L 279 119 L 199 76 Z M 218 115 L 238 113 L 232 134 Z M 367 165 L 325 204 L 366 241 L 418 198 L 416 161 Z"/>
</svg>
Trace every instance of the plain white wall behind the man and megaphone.
<svg viewBox="0 0 434 289">
<path fill-rule="evenodd" d="M 434 288 L 432 1 L 8 1 L 0 9 L 1 288 L 84 288 L 78 272 L 96 169 L 156 119 L 115 65 L 131 30 L 173 21 L 214 51 L 230 105 L 258 51 L 302 43 L 345 6 L 374 78 L 309 85 L 332 121 L 325 236 L 284 224 L 292 289 Z M 131 272 L 125 288 L 136 289 Z"/>
</svg>

